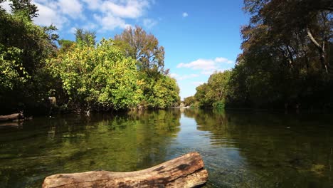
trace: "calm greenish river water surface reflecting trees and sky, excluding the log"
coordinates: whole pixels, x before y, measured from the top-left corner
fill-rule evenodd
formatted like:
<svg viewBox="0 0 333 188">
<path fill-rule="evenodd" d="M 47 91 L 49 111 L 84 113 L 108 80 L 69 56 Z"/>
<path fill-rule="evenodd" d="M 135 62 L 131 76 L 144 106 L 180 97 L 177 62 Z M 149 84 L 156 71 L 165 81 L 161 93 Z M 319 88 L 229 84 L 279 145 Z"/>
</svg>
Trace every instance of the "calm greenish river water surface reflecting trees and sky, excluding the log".
<svg viewBox="0 0 333 188">
<path fill-rule="evenodd" d="M 0 125 L 0 187 L 125 172 L 198 151 L 206 187 L 333 187 L 333 116 L 171 109 Z"/>
</svg>

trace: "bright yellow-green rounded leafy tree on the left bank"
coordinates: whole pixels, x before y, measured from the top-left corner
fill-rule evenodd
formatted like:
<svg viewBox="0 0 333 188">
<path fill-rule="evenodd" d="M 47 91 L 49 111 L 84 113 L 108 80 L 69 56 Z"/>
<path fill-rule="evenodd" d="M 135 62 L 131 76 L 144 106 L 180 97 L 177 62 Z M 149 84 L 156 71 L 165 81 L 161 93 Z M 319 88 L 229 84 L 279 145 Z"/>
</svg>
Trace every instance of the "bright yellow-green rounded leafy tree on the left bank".
<svg viewBox="0 0 333 188">
<path fill-rule="evenodd" d="M 141 101 L 142 81 L 135 61 L 123 56 L 112 40 L 103 39 L 96 48 L 75 44 L 48 61 L 48 67 L 61 80 L 73 108 L 118 110 L 134 108 Z"/>
</svg>

